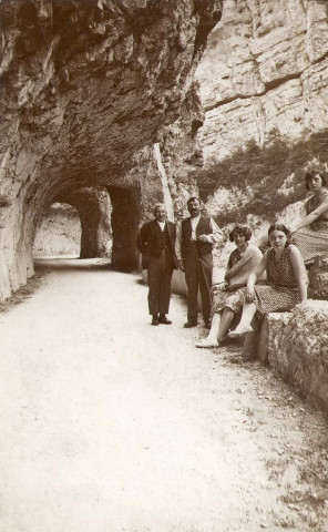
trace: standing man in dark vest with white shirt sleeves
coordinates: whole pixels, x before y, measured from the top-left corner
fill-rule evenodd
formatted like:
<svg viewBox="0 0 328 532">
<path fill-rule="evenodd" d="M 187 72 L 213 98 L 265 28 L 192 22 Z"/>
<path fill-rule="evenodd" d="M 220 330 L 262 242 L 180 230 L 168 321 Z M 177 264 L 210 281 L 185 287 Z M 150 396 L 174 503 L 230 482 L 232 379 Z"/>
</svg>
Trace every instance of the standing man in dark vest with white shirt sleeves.
<svg viewBox="0 0 328 532">
<path fill-rule="evenodd" d="M 185 272 L 187 285 L 187 323 L 184 327 L 197 325 L 197 294 L 201 289 L 204 325 L 211 328 L 211 288 L 213 274 L 214 244 L 222 239 L 222 232 L 213 218 L 201 214 L 198 197 L 187 201 L 189 217 L 184 218 L 177 229 L 176 256 L 178 267 Z"/>
</svg>

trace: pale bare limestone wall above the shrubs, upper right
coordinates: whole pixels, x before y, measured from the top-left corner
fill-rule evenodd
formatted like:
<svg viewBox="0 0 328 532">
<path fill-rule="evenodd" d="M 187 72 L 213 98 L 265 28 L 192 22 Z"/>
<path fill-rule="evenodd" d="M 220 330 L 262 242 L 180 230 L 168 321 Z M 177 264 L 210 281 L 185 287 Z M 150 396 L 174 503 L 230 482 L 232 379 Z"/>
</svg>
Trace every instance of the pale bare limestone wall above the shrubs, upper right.
<svg viewBox="0 0 328 532">
<path fill-rule="evenodd" d="M 206 160 L 327 127 L 327 33 L 322 0 L 225 1 L 197 70 Z"/>
</svg>

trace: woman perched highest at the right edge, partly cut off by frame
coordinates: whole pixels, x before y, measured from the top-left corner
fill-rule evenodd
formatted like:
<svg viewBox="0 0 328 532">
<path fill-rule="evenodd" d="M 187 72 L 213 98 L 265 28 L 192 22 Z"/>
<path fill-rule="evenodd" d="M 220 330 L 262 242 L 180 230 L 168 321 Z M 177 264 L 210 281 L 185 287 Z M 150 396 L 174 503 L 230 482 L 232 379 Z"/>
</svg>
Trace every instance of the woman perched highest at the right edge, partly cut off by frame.
<svg viewBox="0 0 328 532">
<path fill-rule="evenodd" d="M 316 171 L 307 172 L 305 182 L 314 195 L 305 203 L 306 216 L 290 231 L 305 264 L 310 265 L 317 255 L 328 253 L 328 183 L 327 176 Z"/>
</svg>

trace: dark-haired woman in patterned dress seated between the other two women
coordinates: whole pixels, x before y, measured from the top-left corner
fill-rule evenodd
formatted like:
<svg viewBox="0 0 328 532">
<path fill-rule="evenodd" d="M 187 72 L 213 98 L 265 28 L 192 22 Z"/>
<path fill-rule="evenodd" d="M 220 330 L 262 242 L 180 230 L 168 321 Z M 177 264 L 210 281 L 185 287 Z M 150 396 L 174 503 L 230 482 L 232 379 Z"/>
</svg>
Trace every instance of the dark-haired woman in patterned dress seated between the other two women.
<svg viewBox="0 0 328 532">
<path fill-rule="evenodd" d="M 283 224 L 268 229 L 270 248 L 247 280 L 247 287 L 226 300 L 234 313 L 243 309 L 242 319 L 228 336 L 234 338 L 253 330 L 250 321 L 255 313 L 286 313 L 307 299 L 307 276 L 299 249 L 290 244 L 290 232 Z M 266 270 L 267 285 L 256 280 Z"/>
</svg>

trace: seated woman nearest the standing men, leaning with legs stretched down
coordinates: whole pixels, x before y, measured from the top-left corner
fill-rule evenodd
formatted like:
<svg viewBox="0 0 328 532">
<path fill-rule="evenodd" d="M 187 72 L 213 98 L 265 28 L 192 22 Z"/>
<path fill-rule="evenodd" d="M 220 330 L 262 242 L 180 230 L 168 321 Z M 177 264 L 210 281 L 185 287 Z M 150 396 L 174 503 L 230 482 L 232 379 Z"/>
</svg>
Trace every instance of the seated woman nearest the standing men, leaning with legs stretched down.
<svg viewBox="0 0 328 532">
<path fill-rule="evenodd" d="M 249 274 L 262 259 L 258 247 L 248 243 L 252 229 L 247 225 L 237 224 L 229 234 L 229 241 L 236 244 L 236 249 L 229 256 L 224 283 L 213 285 L 212 324 L 207 338 L 198 340 L 196 347 L 217 347 L 234 318 L 234 311 L 225 307 L 232 291 L 246 286 Z"/>
</svg>

